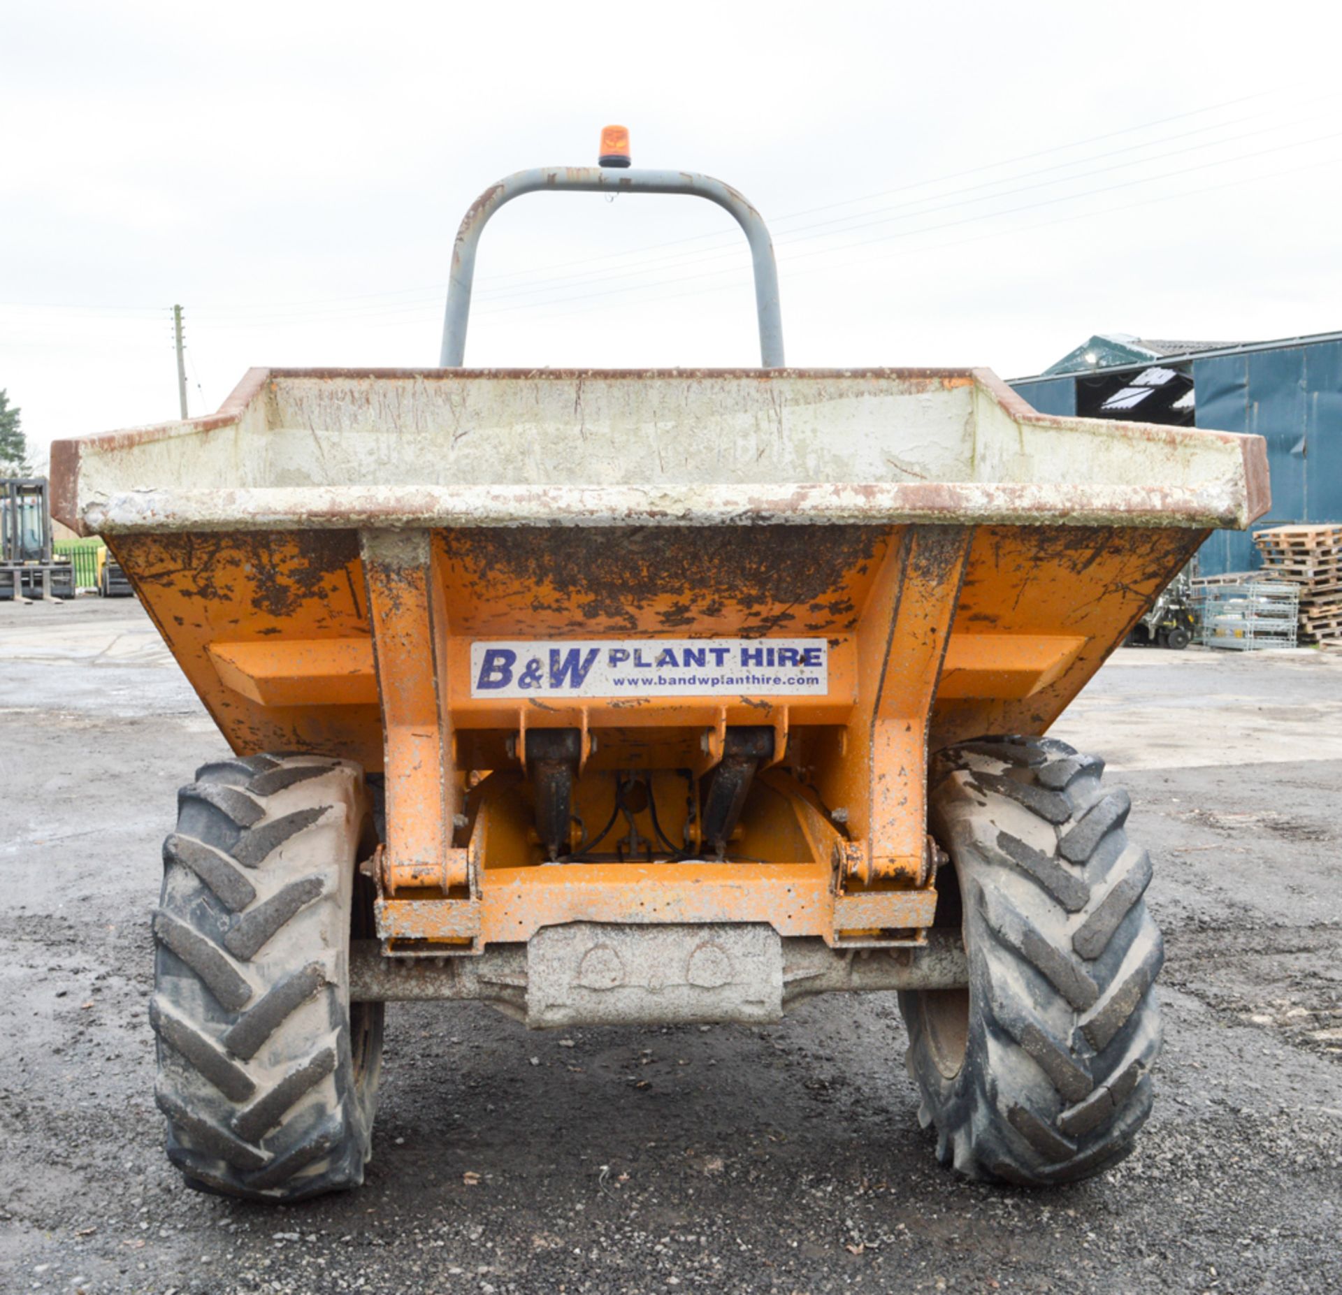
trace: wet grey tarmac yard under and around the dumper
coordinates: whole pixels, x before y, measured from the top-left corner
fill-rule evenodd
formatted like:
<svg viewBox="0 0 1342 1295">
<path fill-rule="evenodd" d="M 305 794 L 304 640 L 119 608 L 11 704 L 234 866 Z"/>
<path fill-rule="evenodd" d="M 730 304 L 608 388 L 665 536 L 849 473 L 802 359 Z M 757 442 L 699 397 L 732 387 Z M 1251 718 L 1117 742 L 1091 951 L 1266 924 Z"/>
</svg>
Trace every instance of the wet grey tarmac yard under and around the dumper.
<svg viewBox="0 0 1342 1295">
<path fill-rule="evenodd" d="M 134 603 L 0 604 L 0 1291 L 1342 1291 L 1342 654 L 1122 650 L 1104 754 L 1168 943 L 1155 1111 L 1106 1177 L 964 1182 L 894 996 L 527 1033 L 391 1004 L 362 1190 L 187 1190 L 149 917 L 224 746 Z"/>
</svg>

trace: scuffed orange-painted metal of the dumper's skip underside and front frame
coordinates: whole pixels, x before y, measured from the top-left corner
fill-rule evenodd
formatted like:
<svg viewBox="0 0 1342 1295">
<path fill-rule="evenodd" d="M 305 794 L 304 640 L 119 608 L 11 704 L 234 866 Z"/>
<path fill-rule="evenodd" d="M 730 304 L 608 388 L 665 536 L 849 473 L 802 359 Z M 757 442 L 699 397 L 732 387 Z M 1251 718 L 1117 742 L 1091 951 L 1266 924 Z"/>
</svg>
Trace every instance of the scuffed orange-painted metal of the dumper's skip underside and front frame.
<svg viewBox="0 0 1342 1295">
<path fill-rule="evenodd" d="M 917 941 L 935 906 L 927 752 L 1045 731 L 1202 538 L 778 525 L 141 534 L 113 549 L 234 750 L 384 773 L 388 946 L 474 951 L 568 921 Z M 470 695 L 478 640 L 733 636 L 824 637 L 827 691 Z M 695 853 L 733 726 L 772 727 L 774 756 L 726 860 L 664 862 L 640 809 L 596 862 L 542 863 L 529 733 L 581 734 L 570 847 L 637 774 L 663 833 Z"/>
</svg>

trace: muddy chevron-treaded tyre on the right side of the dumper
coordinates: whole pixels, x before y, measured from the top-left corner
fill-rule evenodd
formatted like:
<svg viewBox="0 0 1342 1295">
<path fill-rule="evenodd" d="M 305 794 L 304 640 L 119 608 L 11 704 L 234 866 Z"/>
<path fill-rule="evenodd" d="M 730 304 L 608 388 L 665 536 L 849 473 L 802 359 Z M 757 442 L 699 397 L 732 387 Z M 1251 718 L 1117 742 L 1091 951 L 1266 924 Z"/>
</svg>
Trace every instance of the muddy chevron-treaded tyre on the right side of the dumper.
<svg viewBox="0 0 1342 1295">
<path fill-rule="evenodd" d="M 964 931 L 969 986 L 900 993 L 899 1008 L 919 1121 L 969 1178 L 1087 1178 L 1131 1150 L 1151 1108 L 1164 946 L 1150 859 L 1103 768 L 1021 737 L 933 764 L 931 829 L 950 856 L 935 921 Z"/>
</svg>

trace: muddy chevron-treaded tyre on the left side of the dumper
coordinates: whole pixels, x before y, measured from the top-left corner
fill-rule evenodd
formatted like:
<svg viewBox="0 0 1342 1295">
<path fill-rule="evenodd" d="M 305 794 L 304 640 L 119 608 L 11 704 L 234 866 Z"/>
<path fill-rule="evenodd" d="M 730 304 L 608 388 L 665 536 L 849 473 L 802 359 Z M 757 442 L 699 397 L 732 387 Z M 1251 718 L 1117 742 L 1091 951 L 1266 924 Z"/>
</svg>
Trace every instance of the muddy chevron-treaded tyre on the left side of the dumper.
<svg viewBox="0 0 1342 1295">
<path fill-rule="evenodd" d="M 382 1005 L 350 1004 L 349 941 L 372 934 L 374 844 L 348 761 L 224 760 L 178 793 L 149 1012 L 189 1186 L 287 1202 L 364 1181 Z"/>
</svg>

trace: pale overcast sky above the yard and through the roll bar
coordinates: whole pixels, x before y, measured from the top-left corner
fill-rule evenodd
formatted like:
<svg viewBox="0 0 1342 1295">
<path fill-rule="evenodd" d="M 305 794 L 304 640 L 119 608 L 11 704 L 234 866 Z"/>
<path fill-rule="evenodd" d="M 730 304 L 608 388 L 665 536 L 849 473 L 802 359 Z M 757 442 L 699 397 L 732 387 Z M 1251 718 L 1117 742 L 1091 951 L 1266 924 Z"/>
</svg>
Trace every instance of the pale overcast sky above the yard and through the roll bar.
<svg viewBox="0 0 1342 1295">
<path fill-rule="evenodd" d="M 718 176 L 778 251 L 793 365 L 1037 372 L 1095 331 L 1342 327 L 1331 4 L 0 5 L 0 386 L 46 443 L 251 365 L 432 365 L 499 176 Z M 467 364 L 758 362 L 749 259 L 683 197 L 534 195 Z"/>
</svg>

